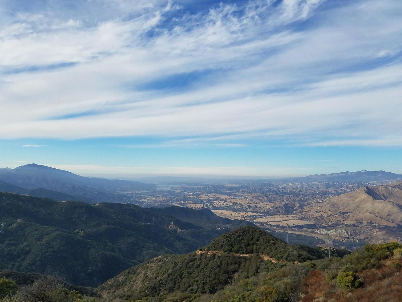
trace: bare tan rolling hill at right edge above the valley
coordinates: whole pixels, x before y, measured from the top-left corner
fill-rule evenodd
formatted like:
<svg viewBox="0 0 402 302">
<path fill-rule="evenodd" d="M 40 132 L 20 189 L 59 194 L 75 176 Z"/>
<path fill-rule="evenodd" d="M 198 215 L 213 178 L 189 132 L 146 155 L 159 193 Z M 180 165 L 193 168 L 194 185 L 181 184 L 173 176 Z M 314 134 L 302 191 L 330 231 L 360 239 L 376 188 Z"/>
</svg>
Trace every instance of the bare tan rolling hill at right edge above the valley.
<svg viewBox="0 0 402 302">
<path fill-rule="evenodd" d="M 320 227 L 367 243 L 402 240 L 402 182 L 365 186 L 302 209 Z"/>
</svg>

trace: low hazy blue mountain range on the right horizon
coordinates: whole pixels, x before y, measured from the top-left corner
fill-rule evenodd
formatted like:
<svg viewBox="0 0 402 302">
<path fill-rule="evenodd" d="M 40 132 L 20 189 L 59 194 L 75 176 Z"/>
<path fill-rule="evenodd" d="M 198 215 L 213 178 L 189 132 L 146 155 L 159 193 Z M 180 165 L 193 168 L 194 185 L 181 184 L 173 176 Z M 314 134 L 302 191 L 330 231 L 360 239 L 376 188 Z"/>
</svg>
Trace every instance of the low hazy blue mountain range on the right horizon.
<svg viewBox="0 0 402 302">
<path fill-rule="evenodd" d="M 282 180 L 284 181 L 284 180 Z M 402 181 L 402 174 L 395 174 L 386 171 L 357 171 L 340 172 L 331 174 L 316 174 L 304 177 L 287 178 L 292 182 L 367 182 L 369 184 L 386 184 Z"/>
</svg>

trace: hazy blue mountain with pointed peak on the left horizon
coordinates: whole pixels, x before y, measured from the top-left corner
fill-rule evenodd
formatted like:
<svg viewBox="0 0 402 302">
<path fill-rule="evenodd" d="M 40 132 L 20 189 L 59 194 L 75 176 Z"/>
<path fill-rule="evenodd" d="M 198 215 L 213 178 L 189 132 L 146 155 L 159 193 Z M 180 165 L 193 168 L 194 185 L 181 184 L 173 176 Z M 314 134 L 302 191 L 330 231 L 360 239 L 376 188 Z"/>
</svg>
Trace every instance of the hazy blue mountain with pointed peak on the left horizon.
<svg viewBox="0 0 402 302">
<path fill-rule="evenodd" d="M 87 203 L 127 202 L 123 192 L 155 188 L 142 182 L 79 176 L 35 163 L 0 169 L 0 181 L 0 191 Z"/>
</svg>

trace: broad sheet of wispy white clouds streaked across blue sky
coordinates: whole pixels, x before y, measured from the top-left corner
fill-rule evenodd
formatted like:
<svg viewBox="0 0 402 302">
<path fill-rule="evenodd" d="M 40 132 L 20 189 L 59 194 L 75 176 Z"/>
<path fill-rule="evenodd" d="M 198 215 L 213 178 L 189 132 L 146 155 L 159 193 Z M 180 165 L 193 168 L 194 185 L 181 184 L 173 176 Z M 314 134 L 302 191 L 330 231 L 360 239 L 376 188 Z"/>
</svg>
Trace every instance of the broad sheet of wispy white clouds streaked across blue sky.
<svg viewBox="0 0 402 302">
<path fill-rule="evenodd" d="M 96 22 L 48 10 L 4 18 L 0 137 L 402 146 L 399 2 L 345 2 L 320 16 L 318 0 L 199 14 L 180 2 L 96 3 Z M 197 79 L 177 89 L 183 74 Z"/>
</svg>

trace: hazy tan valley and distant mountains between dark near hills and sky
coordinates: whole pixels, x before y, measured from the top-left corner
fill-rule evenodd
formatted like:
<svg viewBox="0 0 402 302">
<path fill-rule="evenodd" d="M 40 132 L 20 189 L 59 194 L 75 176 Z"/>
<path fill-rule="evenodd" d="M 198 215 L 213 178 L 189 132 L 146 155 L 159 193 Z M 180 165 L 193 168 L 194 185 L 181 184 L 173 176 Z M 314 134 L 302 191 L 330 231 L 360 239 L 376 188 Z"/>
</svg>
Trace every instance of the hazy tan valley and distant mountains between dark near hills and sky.
<svg viewBox="0 0 402 302">
<path fill-rule="evenodd" d="M 254 223 L 293 243 L 328 246 L 332 242 L 338 248 L 353 250 L 364 244 L 402 239 L 401 174 L 363 170 L 229 183 L 164 179 L 150 184 L 152 178 L 148 183 L 87 178 L 37 164 L 0 169 L 4 192 L 89 204 L 208 209 L 220 217 Z"/>
</svg>

